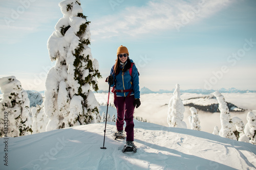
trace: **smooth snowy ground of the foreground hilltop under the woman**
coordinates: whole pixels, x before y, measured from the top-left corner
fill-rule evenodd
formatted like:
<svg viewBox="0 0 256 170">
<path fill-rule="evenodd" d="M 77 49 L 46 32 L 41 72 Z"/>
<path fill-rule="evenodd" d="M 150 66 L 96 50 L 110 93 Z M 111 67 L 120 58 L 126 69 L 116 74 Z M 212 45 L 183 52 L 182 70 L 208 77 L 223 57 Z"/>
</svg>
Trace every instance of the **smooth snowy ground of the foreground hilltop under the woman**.
<svg viewBox="0 0 256 170">
<path fill-rule="evenodd" d="M 115 123 L 81 125 L 9 137 L 0 169 L 256 169 L 256 146 L 202 131 L 135 122 L 137 153 L 122 153 Z M 0 138 L 0 157 L 4 156 Z"/>
</svg>

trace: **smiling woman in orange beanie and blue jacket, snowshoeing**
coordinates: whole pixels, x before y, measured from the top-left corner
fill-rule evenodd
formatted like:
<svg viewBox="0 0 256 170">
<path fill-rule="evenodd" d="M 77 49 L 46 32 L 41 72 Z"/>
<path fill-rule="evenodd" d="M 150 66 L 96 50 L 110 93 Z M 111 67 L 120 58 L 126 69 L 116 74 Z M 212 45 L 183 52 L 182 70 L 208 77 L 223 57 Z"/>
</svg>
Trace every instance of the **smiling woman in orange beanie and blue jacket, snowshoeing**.
<svg viewBox="0 0 256 170">
<path fill-rule="evenodd" d="M 133 60 L 129 59 L 129 52 L 125 46 L 118 47 L 116 63 L 107 81 L 113 87 L 114 104 L 117 109 L 115 135 L 123 136 L 125 120 L 126 147 L 135 148 L 133 114 L 135 107 L 140 106 L 139 73 Z"/>
</svg>

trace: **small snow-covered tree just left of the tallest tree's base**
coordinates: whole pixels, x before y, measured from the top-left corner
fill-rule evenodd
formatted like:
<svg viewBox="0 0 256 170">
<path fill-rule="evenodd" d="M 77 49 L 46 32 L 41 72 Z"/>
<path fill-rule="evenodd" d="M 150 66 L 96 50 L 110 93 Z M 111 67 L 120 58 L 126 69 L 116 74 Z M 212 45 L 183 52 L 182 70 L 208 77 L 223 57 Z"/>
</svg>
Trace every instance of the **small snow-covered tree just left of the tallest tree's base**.
<svg viewBox="0 0 256 170">
<path fill-rule="evenodd" d="M 49 122 L 49 118 L 45 115 L 44 105 L 37 105 L 31 108 L 32 114 L 32 131 L 33 134 L 46 131 L 46 125 Z"/>
</svg>

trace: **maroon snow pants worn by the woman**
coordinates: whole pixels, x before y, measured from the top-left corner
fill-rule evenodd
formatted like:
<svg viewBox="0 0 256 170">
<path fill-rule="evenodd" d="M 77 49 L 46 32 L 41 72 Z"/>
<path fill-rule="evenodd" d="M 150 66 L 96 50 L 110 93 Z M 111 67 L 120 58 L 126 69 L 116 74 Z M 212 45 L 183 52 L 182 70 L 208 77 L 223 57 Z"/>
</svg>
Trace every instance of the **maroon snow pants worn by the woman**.
<svg viewBox="0 0 256 170">
<path fill-rule="evenodd" d="M 122 131 L 124 125 L 123 120 L 125 120 L 126 141 L 134 140 L 134 100 L 134 95 L 130 95 L 129 97 L 117 96 L 114 100 L 117 110 L 116 128 L 117 131 Z"/>
</svg>

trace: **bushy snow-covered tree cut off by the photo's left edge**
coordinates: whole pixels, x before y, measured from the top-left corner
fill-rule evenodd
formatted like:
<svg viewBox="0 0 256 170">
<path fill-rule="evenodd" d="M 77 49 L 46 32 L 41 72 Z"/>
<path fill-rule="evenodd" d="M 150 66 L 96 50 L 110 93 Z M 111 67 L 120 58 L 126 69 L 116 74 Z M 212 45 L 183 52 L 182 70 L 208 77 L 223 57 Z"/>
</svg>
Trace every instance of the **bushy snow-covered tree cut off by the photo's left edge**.
<svg viewBox="0 0 256 170">
<path fill-rule="evenodd" d="M 0 88 L 3 92 L 0 103 L 0 136 L 17 137 L 32 134 L 27 91 L 14 76 L 1 78 Z"/>
</svg>

